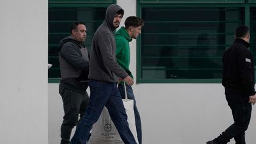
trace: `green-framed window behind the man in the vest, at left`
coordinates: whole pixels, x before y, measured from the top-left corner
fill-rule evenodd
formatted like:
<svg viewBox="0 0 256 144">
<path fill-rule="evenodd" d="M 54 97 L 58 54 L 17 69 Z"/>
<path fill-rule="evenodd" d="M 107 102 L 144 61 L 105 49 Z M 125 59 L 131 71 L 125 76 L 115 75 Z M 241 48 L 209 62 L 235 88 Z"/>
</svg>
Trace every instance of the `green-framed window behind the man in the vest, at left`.
<svg viewBox="0 0 256 144">
<path fill-rule="evenodd" d="M 58 82 L 60 78 L 59 68 L 59 41 L 70 36 L 71 24 L 82 21 L 87 27 L 87 39 L 85 46 L 90 49 L 94 32 L 105 18 L 105 9 L 114 1 L 49 1 L 49 44 L 48 62 L 52 68 L 48 71 L 50 82 Z M 100 4 L 98 4 L 100 3 Z M 103 4 L 102 4 L 103 3 Z M 55 79 L 57 78 L 57 81 Z"/>
</svg>

